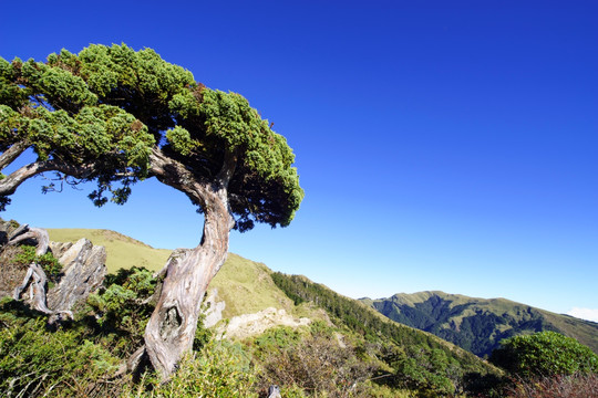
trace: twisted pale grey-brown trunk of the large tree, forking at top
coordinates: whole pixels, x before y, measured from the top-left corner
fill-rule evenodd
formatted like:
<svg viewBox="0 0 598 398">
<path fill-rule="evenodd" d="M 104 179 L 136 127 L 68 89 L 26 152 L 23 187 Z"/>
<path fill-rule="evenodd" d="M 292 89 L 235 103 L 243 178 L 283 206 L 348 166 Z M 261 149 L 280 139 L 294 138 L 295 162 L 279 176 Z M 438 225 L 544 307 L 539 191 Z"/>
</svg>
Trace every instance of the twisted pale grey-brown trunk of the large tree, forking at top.
<svg viewBox="0 0 598 398">
<path fill-rule="evenodd" d="M 145 329 L 145 353 L 161 377 L 167 379 L 193 347 L 202 301 L 226 261 L 228 235 L 234 226 L 227 185 L 236 158 L 227 157 L 210 184 L 159 151 L 154 151 L 152 164 L 153 175 L 198 202 L 205 217 L 199 245 L 169 259 L 159 298 Z M 138 353 L 135 357 L 140 357 Z"/>
</svg>

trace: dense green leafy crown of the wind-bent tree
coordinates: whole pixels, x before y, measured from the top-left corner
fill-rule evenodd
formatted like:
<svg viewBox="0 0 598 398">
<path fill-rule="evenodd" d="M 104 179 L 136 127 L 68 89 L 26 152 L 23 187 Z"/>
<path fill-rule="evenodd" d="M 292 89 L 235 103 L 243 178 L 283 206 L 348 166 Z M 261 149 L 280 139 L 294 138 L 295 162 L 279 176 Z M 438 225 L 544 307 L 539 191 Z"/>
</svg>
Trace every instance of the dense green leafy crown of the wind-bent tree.
<svg viewBox="0 0 598 398">
<path fill-rule="evenodd" d="M 206 182 L 233 163 L 228 202 L 240 231 L 288 226 L 303 197 L 292 150 L 247 100 L 207 88 L 151 49 L 92 44 L 47 62 L 0 57 L 0 168 L 27 148 L 40 172 L 97 181 L 90 195 L 97 206 L 106 193 L 124 203 L 132 184 L 153 176 L 152 156 Z M 10 178 L 0 181 L 2 207 L 18 186 Z"/>
</svg>

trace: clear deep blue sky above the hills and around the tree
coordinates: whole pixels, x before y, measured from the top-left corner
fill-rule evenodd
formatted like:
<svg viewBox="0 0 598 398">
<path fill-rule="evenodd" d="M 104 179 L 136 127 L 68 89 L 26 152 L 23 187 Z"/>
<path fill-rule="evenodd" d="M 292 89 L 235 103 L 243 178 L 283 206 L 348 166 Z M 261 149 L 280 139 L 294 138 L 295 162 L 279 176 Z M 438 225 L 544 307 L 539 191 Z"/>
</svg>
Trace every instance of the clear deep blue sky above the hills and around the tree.
<svg viewBox="0 0 598 398">
<path fill-rule="evenodd" d="M 289 228 L 230 250 L 352 296 L 442 290 L 598 311 L 596 1 L 10 1 L 0 56 L 153 48 L 246 96 L 297 155 Z M 127 205 L 42 196 L 3 218 L 193 247 L 202 219 L 148 180 Z"/>
</svg>

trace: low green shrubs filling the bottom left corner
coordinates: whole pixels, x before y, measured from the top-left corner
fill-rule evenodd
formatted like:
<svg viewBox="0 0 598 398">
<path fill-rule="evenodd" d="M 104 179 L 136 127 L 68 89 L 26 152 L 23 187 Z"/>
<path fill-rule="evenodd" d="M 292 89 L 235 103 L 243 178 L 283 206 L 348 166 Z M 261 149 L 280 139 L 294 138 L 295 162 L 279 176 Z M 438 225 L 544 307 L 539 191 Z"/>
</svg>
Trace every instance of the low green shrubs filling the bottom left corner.
<svg viewBox="0 0 598 398">
<path fill-rule="evenodd" d="M 116 370 L 118 359 L 101 345 L 45 324 L 20 302 L 0 302 L 0 390 L 7 396 L 86 396 Z"/>
</svg>

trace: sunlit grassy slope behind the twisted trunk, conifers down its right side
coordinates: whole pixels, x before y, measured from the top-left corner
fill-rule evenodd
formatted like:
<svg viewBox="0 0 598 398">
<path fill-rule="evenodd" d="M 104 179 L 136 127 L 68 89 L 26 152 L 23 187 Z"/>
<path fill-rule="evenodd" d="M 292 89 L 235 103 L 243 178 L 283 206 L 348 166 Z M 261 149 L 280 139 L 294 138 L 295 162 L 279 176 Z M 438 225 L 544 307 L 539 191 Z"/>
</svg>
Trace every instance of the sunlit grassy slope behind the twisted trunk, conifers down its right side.
<svg viewBox="0 0 598 398">
<path fill-rule="evenodd" d="M 50 237 L 66 241 L 90 237 L 105 245 L 109 259 L 126 250 L 127 260 L 113 262 L 113 270 L 114 264 L 159 270 L 169 252 L 112 231 L 50 230 Z M 372 388 L 385 388 L 394 391 L 393 396 L 401 396 L 401 389 L 423 391 L 426 396 L 448 395 L 465 386 L 472 375 L 482 379 L 501 374 L 473 354 L 430 333 L 396 324 L 359 301 L 307 277 L 272 272 L 265 264 L 233 253 L 212 282 L 209 292 L 214 290 L 217 294 L 215 301 L 209 301 L 210 308 L 221 308 L 224 301 L 221 316 L 227 321 L 210 324 L 216 325 L 217 334 L 226 331 L 225 336 L 252 347 L 258 362 L 278 364 L 287 355 L 295 355 L 289 354 L 291 349 L 298 349 L 300 358 L 313 354 L 313 366 L 339 359 L 334 371 L 359 365 L 363 367 L 364 380 L 379 380 L 378 387 Z M 230 325 L 240 327 L 233 333 Z M 270 331 L 264 333 L 267 328 Z M 323 338 L 321 345 L 316 344 L 318 338 Z M 352 353 L 352 359 L 342 362 L 340 353 Z"/>
</svg>

